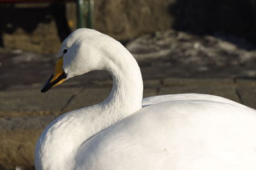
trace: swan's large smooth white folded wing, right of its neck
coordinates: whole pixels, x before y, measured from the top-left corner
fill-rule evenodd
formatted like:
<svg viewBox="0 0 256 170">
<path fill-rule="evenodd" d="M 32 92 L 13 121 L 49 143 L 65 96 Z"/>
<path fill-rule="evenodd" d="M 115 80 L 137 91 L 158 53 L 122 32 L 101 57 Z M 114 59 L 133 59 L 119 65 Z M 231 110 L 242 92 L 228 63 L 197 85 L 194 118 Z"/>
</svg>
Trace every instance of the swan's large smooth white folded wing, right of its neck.
<svg viewBox="0 0 256 170">
<path fill-rule="evenodd" d="M 76 169 L 256 169 L 255 132 L 255 111 L 236 104 L 151 104 L 85 141 Z"/>
</svg>

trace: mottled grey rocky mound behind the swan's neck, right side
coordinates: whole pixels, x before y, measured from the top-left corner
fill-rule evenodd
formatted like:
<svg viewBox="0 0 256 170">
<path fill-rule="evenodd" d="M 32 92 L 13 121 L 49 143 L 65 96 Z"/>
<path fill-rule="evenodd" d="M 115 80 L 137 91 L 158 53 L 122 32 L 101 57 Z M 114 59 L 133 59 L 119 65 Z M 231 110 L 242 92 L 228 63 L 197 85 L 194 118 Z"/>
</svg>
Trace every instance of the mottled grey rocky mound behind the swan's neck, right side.
<svg viewBox="0 0 256 170">
<path fill-rule="evenodd" d="M 223 39 L 168 30 L 140 36 L 125 47 L 140 63 L 159 66 L 165 76 L 254 77 L 256 50 Z"/>
</svg>

